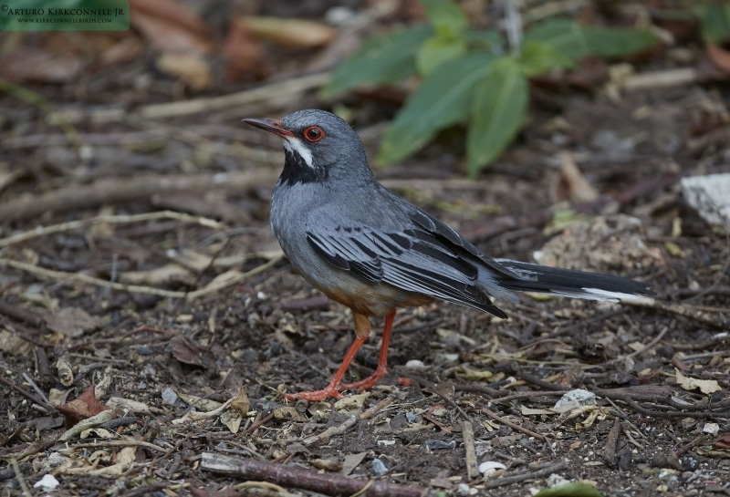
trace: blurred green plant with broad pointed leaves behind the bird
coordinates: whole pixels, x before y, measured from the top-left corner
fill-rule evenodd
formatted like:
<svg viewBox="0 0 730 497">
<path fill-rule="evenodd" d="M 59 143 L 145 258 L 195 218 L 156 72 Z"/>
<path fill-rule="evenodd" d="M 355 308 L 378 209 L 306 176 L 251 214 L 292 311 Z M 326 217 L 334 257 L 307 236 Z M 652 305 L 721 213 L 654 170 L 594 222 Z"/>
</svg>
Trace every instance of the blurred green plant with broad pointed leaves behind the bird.
<svg viewBox="0 0 730 497">
<path fill-rule="evenodd" d="M 422 78 L 385 131 L 378 160 L 391 164 L 436 133 L 467 124 L 468 174 L 474 178 L 516 136 L 527 115 L 528 79 L 573 67 L 589 56 L 620 57 L 656 43 L 649 29 L 582 26 L 553 18 L 527 28 L 508 53 L 496 30 L 476 30 L 454 0 L 422 0 L 428 23 L 373 36 L 335 71 L 332 98 L 361 84 Z"/>
</svg>

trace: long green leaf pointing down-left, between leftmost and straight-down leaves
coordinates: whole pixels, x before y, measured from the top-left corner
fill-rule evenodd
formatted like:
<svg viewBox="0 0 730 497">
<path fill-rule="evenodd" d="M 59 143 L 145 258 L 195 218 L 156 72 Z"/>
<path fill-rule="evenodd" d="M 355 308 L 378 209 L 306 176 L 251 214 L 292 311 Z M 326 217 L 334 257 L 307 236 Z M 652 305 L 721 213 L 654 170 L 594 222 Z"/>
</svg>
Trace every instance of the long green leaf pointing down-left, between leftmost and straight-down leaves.
<svg viewBox="0 0 730 497">
<path fill-rule="evenodd" d="M 494 59 L 472 53 L 443 64 L 423 79 L 385 130 L 378 160 L 391 164 L 408 157 L 440 129 L 468 119 L 474 85 L 489 72 Z"/>
</svg>

